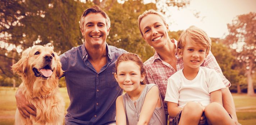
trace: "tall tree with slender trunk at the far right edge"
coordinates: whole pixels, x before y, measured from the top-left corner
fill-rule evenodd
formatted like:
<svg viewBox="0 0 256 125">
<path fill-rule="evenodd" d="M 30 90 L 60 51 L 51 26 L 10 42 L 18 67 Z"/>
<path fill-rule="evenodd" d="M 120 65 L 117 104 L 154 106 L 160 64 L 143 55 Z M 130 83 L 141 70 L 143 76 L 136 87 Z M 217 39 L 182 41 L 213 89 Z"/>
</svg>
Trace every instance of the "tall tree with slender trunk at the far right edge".
<svg viewBox="0 0 256 125">
<path fill-rule="evenodd" d="M 245 70 L 247 76 L 247 94 L 253 96 L 255 95 L 252 76 L 256 67 L 256 13 L 237 16 L 231 24 L 228 24 L 228 30 L 226 43 L 236 49 L 236 57 L 242 62 L 240 67 Z"/>
</svg>

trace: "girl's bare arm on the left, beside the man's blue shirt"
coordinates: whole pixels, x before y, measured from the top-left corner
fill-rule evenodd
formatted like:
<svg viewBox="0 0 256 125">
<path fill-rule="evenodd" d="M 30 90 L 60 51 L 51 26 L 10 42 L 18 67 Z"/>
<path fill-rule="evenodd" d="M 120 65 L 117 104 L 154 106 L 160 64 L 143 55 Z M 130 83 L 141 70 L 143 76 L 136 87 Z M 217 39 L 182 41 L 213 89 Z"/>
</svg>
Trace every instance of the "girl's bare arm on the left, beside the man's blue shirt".
<svg viewBox="0 0 256 125">
<path fill-rule="evenodd" d="M 126 114 L 122 95 L 116 99 L 116 125 L 126 125 Z"/>
</svg>

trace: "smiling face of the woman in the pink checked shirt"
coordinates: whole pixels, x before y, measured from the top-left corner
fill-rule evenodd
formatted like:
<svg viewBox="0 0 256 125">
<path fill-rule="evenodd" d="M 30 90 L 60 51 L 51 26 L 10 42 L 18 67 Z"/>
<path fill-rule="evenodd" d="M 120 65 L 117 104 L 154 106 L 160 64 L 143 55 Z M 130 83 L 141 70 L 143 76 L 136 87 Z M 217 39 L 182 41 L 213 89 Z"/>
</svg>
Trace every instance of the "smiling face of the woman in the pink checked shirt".
<svg viewBox="0 0 256 125">
<path fill-rule="evenodd" d="M 163 19 L 156 14 L 148 14 L 141 20 L 140 30 L 143 39 L 153 48 L 162 48 L 169 40 L 168 26 Z"/>
</svg>

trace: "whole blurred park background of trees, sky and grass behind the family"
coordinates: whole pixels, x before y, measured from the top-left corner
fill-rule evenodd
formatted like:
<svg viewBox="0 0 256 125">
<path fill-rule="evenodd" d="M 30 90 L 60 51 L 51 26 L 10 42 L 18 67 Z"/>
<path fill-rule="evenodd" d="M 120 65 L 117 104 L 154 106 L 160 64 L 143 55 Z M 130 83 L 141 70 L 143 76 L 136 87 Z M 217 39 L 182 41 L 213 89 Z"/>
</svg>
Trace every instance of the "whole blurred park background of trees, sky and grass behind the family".
<svg viewBox="0 0 256 125">
<path fill-rule="evenodd" d="M 83 44 L 79 20 L 93 5 L 105 10 L 111 20 L 107 43 L 136 53 L 143 61 L 155 53 L 142 39 L 137 25 L 138 16 L 145 10 L 164 15 L 171 39 L 178 40 L 190 25 L 205 30 L 212 40 L 211 51 L 232 84 L 229 89 L 238 121 L 256 124 L 255 0 L 0 0 L 0 125 L 14 123 L 14 94 L 21 83 L 10 66 L 20 59 L 23 50 L 34 45 L 50 46 L 60 55 Z M 224 21 L 229 16 L 232 18 Z M 64 78 L 60 87 L 67 108 Z"/>
</svg>

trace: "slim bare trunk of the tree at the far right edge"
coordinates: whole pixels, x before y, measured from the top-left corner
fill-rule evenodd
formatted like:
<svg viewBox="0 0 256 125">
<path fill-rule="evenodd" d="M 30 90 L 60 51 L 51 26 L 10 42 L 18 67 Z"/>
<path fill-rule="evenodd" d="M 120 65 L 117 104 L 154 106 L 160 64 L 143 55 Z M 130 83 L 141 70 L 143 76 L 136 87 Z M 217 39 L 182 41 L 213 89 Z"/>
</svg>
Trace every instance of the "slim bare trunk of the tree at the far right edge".
<svg viewBox="0 0 256 125">
<path fill-rule="evenodd" d="M 254 60 L 253 60 L 254 61 Z M 247 95 L 249 96 L 254 96 L 254 89 L 253 89 L 253 83 L 252 83 L 252 65 L 253 65 L 253 61 L 250 60 L 249 62 L 249 69 L 247 70 Z"/>
</svg>

